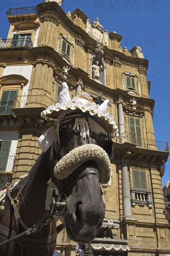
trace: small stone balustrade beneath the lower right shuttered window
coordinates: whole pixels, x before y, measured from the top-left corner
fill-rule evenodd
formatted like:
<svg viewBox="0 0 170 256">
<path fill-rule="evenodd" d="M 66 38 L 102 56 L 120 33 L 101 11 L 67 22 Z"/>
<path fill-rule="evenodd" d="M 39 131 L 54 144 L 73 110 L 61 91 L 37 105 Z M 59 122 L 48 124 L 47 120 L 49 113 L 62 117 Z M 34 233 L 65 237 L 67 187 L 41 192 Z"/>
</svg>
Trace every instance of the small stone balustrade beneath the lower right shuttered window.
<svg viewBox="0 0 170 256">
<path fill-rule="evenodd" d="M 131 189 L 131 205 L 135 206 L 139 204 L 139 206 L 144 207 L 145 204 L 152 208 L 153 202 L 151 200 L 151 192 L 139 190 L 139 189 Z"/>
</svg>

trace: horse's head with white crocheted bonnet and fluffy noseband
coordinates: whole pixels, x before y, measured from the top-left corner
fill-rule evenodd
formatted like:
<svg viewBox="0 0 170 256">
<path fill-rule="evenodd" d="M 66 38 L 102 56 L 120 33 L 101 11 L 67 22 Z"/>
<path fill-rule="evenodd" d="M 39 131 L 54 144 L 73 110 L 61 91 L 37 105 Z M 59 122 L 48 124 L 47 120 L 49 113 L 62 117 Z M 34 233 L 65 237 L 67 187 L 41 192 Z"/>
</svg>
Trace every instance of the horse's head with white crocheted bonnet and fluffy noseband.
<svg viewBox="0 0 170 256">
<path fill-rule="evenodd" d="M 41 113 L 48 121 L 56 120 L 41 135 L 39 144 L 51 152 L 49 166 L 54 183 L 60 199 L 66 199 L 66 232 L 76 242 L 92 241 L 105 216 L 100 183 L 111 179 L 110 138 L 118 135 L 114 119 L 106 112 L 109 102 L 98 107 L 85 93 L 71 101 L 63 83 L 59 103 Z"/>
</svg>

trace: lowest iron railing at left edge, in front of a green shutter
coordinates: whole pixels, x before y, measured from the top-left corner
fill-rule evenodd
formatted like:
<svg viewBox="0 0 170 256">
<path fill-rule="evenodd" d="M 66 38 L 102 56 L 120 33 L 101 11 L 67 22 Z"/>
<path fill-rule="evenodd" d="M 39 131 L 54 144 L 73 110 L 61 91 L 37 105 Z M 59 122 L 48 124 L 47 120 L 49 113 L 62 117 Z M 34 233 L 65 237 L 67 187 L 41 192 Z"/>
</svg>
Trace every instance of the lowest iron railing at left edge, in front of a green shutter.
<svg viewBox="0 0 170 256">
<path fill-rule="evenodd" d="M 16 161 L 15 155 L 0 154 L 0 171 L 12 172 Z"/>
</svg>

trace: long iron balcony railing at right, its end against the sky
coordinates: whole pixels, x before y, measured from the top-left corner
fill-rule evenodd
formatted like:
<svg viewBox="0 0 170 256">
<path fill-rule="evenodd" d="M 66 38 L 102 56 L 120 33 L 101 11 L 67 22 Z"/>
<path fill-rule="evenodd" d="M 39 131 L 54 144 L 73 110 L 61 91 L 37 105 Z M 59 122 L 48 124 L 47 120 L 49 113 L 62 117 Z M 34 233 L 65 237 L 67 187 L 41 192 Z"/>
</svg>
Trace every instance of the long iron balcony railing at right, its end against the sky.
<svg viewBox="0 0 170 256">
<path fill-rule="evenodd" d="M 136 136 L 136 134 L 131 134 L 127 132 L 124 132 L 123 134 L 121 134 L 116 139 L 116 142 L 121 144 L 123 144 L 124 142 L 129 142 L 129 143 L 137 144 L 138 148 L 147 148 L 151 150 L 169 152 L 168 142 L 139 138 Z"/>
</svg>

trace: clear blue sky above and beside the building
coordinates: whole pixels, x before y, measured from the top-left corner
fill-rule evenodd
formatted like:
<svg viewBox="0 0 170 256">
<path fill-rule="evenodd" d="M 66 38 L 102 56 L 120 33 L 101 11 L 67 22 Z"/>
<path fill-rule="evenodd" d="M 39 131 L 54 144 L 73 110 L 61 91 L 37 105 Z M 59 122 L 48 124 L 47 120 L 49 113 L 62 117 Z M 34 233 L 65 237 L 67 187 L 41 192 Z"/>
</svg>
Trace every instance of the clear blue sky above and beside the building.
<svg viewBox="0 0 170 256">
<path fill-rule="evenodd" d="M 44 0 L 0 0 L 0 37 L 7 38 L 8 8 L 36 6 Z M 170 141 L 170 1 L 169 0 L 64 0 L 71 13 L 80 8 L 92 21 L 97 17 L 104 30 L 123 36 L 122 47 L 139 45 L 149 60 L 150 98 L 155 100 L 154 129 L 157 141 Z M 170 147 L 170 142 L 169 142 Z M 169 158 L 170 159 L 170 158 Z M 163 186 L 170 180 L 166 163 Z"/>
</svg>

